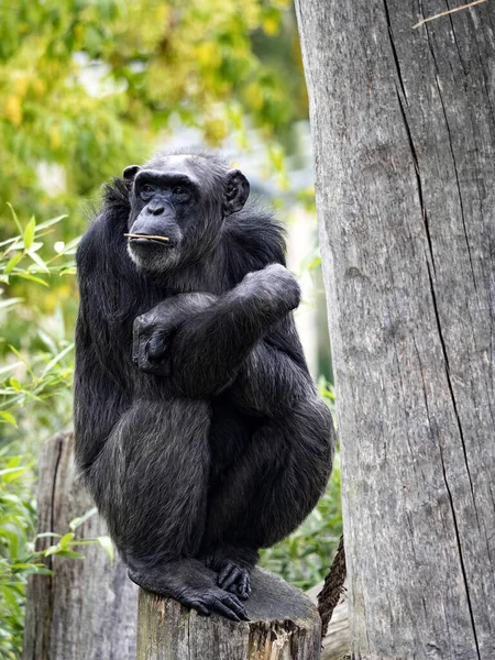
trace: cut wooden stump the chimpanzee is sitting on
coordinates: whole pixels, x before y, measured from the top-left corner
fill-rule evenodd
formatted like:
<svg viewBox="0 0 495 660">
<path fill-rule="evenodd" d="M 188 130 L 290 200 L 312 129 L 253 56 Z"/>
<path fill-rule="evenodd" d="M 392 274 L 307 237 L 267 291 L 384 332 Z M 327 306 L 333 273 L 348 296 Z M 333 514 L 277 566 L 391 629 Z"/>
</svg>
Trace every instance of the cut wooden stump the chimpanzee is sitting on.
<svg viewBox="0 0 495 660">
<path fill-rule="evenodd" d="M 140 590 L 138 660 L 318 660 L 321 622 L 310 600 L 262 569 L 252 587 L 251 622 L 239 624 Z"/>
</svg>

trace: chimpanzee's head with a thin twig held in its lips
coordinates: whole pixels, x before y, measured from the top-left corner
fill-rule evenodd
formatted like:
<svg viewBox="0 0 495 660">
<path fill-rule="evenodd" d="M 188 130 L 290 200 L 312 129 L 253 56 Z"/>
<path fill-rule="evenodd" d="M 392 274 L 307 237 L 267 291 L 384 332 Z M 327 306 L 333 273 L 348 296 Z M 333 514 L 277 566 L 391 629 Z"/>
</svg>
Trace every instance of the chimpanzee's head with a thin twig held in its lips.
<svg viewBox="0 0 495 660">
<path fill-rule="evenodd" d="M 131 202 L 129 254 L 151 273 L 201 258 L 221 235 L 227 216 L 242 209 L 250 184 L 210 154 L 157 155 L 123 172 Z"/>
</svg>

